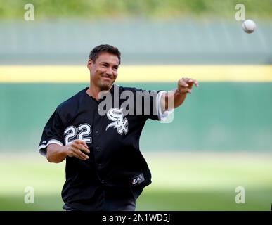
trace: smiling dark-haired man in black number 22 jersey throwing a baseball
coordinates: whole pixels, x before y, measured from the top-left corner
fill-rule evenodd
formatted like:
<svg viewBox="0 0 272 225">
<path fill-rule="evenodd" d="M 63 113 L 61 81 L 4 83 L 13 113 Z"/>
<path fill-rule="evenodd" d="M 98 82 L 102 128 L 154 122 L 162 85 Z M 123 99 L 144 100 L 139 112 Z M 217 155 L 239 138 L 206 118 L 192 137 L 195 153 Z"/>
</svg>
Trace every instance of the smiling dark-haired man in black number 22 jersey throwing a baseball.
<svg viewBox="0 0 272 225">
<path fill-rule="evenodd" d="M 195 79 L 173 91 L 145 91 L 114 84 L 119 50 L 96 46 L 89 55 L 90 84 L 60 103 L 44 127 L 39 152 L 48 162 L 66 160 L 65 210 L 135 210 L 151 183 L 139 150 L 146 120 L 165 120 L 191 93 Z"/>
</svg>

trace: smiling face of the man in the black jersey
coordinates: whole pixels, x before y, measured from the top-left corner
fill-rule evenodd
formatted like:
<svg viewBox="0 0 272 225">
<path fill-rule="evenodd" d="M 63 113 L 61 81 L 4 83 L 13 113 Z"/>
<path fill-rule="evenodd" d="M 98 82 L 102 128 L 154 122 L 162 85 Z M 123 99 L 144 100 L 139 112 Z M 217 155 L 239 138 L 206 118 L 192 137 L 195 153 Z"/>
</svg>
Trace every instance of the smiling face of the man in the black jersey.
<svg viewBox="0 0 272 225">
<path fill-rule="evenodd" d="M 119 59 L 111 53 L 101 53 L 96 62 L 88 61 L 88 68 L 91 74 L 91 84 L 101 91 L 110 90 L 117 78 Z"/>
</svg>

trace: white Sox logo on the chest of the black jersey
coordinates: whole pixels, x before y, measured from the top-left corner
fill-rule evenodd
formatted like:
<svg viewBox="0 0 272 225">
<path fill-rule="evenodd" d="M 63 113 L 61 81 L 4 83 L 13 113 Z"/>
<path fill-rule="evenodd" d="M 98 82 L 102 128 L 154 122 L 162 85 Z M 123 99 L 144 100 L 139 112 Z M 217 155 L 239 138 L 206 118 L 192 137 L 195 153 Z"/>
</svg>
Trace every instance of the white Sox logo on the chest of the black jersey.
<svg viewBox="0 0 272 225">
<path fill-rule="evenodd" d="M 122 113 L 123 108 L 111 108 L 107 112 L 107 117 L 109 120 L 112 120 L 110 124 L 106 127 L 106 130 L 110 127 L 116 128 L 119 134 L 127 134 L 129 131 L 129 122 L 127 118 L 124 118 L 124 114 Z"/>
</svg>

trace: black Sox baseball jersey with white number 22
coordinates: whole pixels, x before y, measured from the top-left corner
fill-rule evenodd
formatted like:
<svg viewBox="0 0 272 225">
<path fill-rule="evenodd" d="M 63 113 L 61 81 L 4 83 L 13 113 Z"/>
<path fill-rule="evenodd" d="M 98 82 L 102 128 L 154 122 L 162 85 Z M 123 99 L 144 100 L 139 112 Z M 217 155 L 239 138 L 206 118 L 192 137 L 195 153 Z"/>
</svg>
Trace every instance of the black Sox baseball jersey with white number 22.
<svg viewBox="0 0 272 225">
<path fill-rule="evenodd" d="M 70 207 L 93 210 L 101 185 L 141 192 L 151 183 L 139 139 L 146 120 L 160 120 L 164 114 L 159 106 L 162 91 L 113 85 L 108 91 L 112 98 L 96 101 L 87 89 L 58 105 L 44 127 L 39 151 L 45 155 L 50 143 L 86 141 L 88 160 L 66 158 L 62 197 Z"/>
</svg>

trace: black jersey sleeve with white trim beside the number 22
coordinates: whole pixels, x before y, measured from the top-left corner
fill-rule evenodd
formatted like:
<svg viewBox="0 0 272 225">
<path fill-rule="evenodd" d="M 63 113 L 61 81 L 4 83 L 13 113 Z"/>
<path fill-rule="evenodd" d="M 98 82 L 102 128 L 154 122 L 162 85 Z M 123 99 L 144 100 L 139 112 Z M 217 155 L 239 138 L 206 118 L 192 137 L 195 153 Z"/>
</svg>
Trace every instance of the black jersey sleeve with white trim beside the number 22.
<svg viewBox="0 0 272 225">
<path fill-rule="evenodd" d="M 58 114 L 58 110 L 55 110 L 44 127 L 41 141 L 39 143 L 39 153 L 41 153 L 41 155 L 46 155 L 46 148 L 51 143 L 64 146 L 63 123 L 60 119 L 60 115 Z"/>
</svg>

